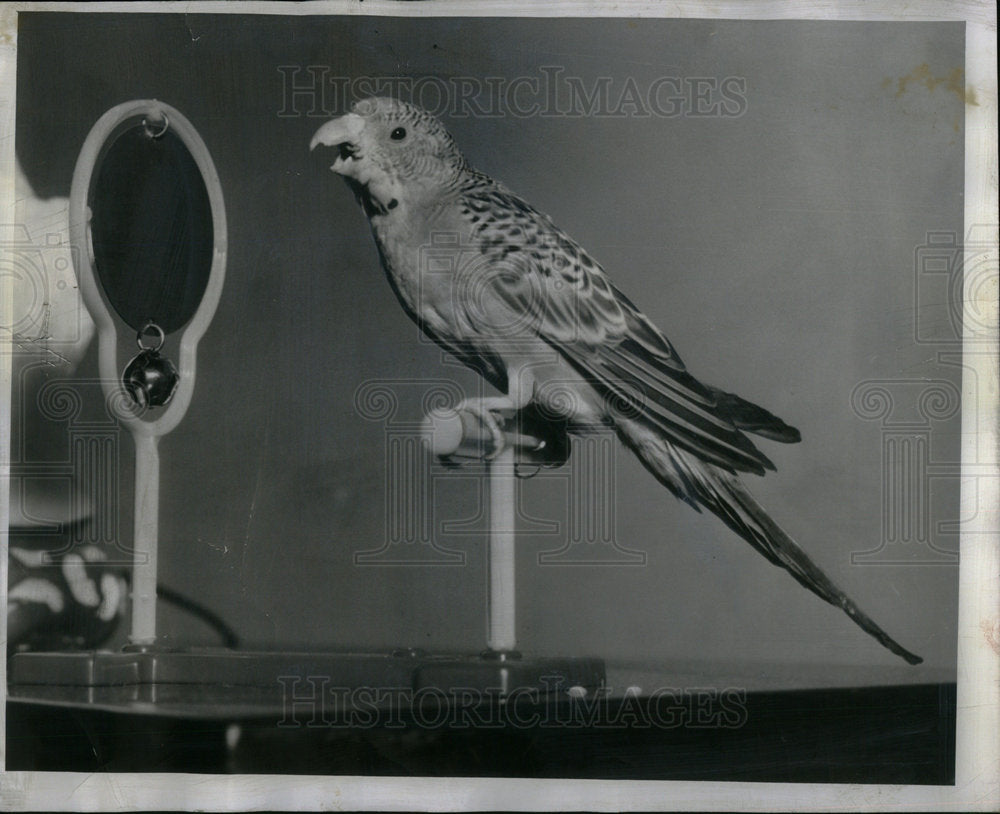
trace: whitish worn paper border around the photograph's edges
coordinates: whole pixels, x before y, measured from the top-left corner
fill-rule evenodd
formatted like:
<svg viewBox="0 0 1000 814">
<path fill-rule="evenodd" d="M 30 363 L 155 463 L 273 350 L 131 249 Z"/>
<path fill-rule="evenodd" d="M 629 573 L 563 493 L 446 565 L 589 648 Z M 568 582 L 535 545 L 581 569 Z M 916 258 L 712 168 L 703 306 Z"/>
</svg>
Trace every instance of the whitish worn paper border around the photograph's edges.
<svg viewBox="0 0 1000 814">
<path fill-rule="evenodd" d="M 977 104 L 965 107 L 965 233 L 998 222 L 996 11 L 991 2 L 475 2 L 475 0 L 330 0 L 298 4 L 4 3 L 0 5 L 0 208 L 14 223 L 14 123 L 17 14 L 21 11 L 183 12 L 185 14 L 362 15 L 397 17 L 659 17 L 749 20 L 964 21 L 966 83 Z M 997 246 L 987 248 L 997 265 Z M 966 280 L 968 296 L 973 293 Z M 7 286 L 9 288 L 9 285 Z M 993 288 L 983 287 L 985 293 Z M 980 296 L 983 295 L 980 291 Z M 11 324 L 12 295 L 0 279 L 0 324 Z M 7 319 L 7 322 L 3 322 Z M 965 342 L 971 339 L 964 320 Z M 992 326 L 995 330 L 996 326 Z M 9 337 L 0 337 L 6 344 Z M 963 470 L 977 461 L 997 472 L 997 399 L 975 380 L 995 381 L 997 348 L 977 347 L 964 359 Z M 12 355 L 0 349 L 0 638 L 6 644 L 7 522 L 9 517 Z M 985 428 L 985 430 L 983 429 Z M 375 778 L 353 776 L 80 774 L 3 772 L 4 810 L 239 811 L 345 808 L 354 810 L 995 810 L 1000 805 L 1000 561 L 994 477 L 963 477 L 959 566 L 958 696 L 954 786 L 783 784 L 703 781 L 534 780 L 511 778 Z M 975 511 L 976 506 L 986 511 Z M 0 660 L 0 760 L 5 754 L 6 662 Z"/>
</svg>

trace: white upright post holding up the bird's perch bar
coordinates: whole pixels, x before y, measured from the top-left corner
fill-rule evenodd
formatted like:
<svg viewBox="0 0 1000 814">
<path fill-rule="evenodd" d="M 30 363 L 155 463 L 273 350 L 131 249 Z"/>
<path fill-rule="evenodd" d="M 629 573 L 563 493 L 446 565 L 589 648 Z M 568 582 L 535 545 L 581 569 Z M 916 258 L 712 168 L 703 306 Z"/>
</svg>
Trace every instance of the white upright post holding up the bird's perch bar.
<svg viewBox="0 0 1000 814">
<path fill-rule="evenodd" d="M 514 594 L 514 448 L 508 446 L 490 461 L 490 650 L 515 649 Z"/>
</svg>

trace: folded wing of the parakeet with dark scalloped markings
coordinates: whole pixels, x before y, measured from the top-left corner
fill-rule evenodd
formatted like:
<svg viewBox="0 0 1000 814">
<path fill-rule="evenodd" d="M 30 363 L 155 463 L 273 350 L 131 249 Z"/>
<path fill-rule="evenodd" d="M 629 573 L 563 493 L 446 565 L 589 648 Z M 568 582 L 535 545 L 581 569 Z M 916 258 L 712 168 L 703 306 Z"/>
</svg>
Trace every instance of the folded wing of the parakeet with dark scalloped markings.
<svg viewBox="0 0 1000 814">
<path fill-rule="evenodd" d="M 483 253 L 504 266 L 491 289 L 615 409 L 731 472 L 774 468 L 726 415 L 720 391 L 688 373 L 667 338 L 549 218 L 502 187 L 468 205 Z"/>
</svg>

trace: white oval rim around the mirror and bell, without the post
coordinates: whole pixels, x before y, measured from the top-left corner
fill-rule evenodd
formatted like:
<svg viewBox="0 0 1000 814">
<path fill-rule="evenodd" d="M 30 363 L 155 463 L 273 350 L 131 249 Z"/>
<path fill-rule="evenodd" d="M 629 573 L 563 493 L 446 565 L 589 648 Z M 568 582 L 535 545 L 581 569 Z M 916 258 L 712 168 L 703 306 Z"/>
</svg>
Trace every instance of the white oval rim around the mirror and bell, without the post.
<svg viewBox="0 0 1000 814">
<path fill-rule="evenodd" d="M 165 123 L 183 142 L 201 173 L 212 215 L 212 257 L 208 281 L 193 316 L 178 328 L 181 336 L 177 360 L 180 381 L 170 403 L 152 420 L 144 419 L 127 406 L 131 404 L 131 400 L 121 381 L 116 327 L 118 322 L 126 323 L 120 316 L 116 316 L 111 299 L 101 284 L 91 234 L 90 201 L 95 173 L 100 172 L 102 158 L 123 132 L 136 126 L 142 127 L 144 121 L 151 127 L 160 127 L 161 123 Z M 70 189 L 69 221 L 72 245 L 77 247 L 74 258 L 79 266 L 77 278 L 80 291 L 87 309 L 97 323 L 100 374 L 109 403 L 115 406 L 118 417 L 134 434 L 150 437 L 165 435 L 177 426 L 191 402 L 198 342 L 219 304 L 226 268 L 227 233 L 222 186 L 212 157 L 198 131 L 178 110 L 156 99 L 138 99 L 108 110 L 91 128 L 77 158 Z"/>
</svg>

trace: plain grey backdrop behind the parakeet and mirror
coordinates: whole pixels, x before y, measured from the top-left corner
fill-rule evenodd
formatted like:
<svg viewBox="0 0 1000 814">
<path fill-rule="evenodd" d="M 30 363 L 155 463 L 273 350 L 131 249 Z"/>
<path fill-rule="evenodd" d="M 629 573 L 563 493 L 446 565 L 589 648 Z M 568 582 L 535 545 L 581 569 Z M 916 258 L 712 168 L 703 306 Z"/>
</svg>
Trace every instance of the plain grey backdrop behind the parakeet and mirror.
<svg viewBox="0 0 1000 814">
<path fill-rule="evenodd" d="M 940 347 L 914 342 L 913 301 L 926 234 L 962 231 L 962 101 L 944 86 L 896 93 L 922 63 L 933 76 L 963 66 L 960 24 L 29 13 L 18 38 L 16 148 L 39 194 L 68 194 L 90 127 L 133 98 L 178 108 L 212 153 L 229 264 L 190 411 L 161 445 L 161 578 L 262 647 L 478 650 L 485 618 L 480 536 L 439 538 L 465 553 L 460 567 L 353 563 L 386 524 L 386 430 L 358 415 L 359 384 L 447 378 L 472 391 L 475 377 L 443 363 L 399 309 L 351 195 L 308 153 L 323 119 L 278 115 L 278 66 L 511 78 L 558 65 L 587 84 L 607 75 L 641 88 L 745 77 L 739 118 L 445 118 L 470 161 L 574 235 L 696 376 L 802 431 L 797 446 L 761 442 L 779 471 L 750 476 L 751 488 L 926 658 L 897 678 L 953 675 L 957 567 L 922 564 L 916 544 L 897 552 L 908 565 L 851 563 L 882 539 L 883 466 L 879 422 L 855 415 L 850 396 L 867 380 L 960 380 Z M 919 318 L 946 324 L 943 298 Z M 94 351 L 78 377 L 97 375 Z M 420 417 L 419 393 L 401 388 L 400 418 Z M 47 439 L 37 454 L 65 443 L 60 426 L 27 426 Z M 957 414 L 932 429 L 932 457 L 957 465 Z M 660 662 L 667 676 L 695 659 L 706 681 L 832 684 L 897 666 L 624 452 L 616 467 L 617 538 L 646 565 L 539 566 L 560 538 L 523 535 L 523 650 Z M 958 486 L 933 482 L 935 523 L 958 517 Z M 563 517 L 565 488 L 529 484 L 531 512 Z M 442 517 L 475 512 L 474 485 L 446 491 Z M 957 535 L 934 539 L 957 548 Z M 175 612 L 162 623 L 173 640 L 212 640 Z"/>
</svg>

